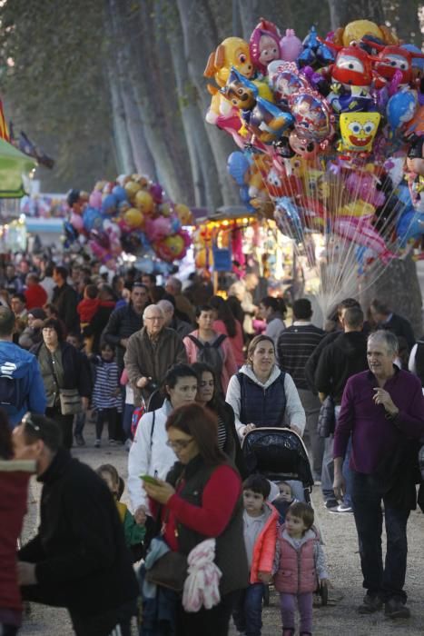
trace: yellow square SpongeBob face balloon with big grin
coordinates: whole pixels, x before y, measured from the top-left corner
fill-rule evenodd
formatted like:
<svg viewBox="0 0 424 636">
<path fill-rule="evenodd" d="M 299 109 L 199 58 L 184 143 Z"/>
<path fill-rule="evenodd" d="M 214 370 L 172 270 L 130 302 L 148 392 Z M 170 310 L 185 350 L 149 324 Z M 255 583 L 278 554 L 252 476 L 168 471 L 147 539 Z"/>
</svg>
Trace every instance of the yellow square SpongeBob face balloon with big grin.
<svg viewBox="0 0 424 636">
<path fill-rule="evenodd" d="M 341 149 L 354 153 L 369 153 L 380 119 L 380 113 L 340 114 Z"/>
</svg>

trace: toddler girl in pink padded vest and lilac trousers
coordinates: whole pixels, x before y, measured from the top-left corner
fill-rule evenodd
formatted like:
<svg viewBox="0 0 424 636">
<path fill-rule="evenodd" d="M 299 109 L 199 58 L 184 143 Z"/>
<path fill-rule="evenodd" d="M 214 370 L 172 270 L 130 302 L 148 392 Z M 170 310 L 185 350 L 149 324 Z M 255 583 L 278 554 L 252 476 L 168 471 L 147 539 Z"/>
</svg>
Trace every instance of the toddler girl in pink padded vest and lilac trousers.
<svg viewBox="0 0 424 636">
<path fill-rule="evenodd" d="M 322 585 L 329 582 L 320 537 L 312 527 L 313 518 L 310 505 L 292 503 L 284 525 L 278 529 L 274 585 L 280 592 L 282 636 L 294 635 L 296 601 L 301 614 L 300 636 L 311 636 L 312 594 L 318 581 Z"/>
</svg>

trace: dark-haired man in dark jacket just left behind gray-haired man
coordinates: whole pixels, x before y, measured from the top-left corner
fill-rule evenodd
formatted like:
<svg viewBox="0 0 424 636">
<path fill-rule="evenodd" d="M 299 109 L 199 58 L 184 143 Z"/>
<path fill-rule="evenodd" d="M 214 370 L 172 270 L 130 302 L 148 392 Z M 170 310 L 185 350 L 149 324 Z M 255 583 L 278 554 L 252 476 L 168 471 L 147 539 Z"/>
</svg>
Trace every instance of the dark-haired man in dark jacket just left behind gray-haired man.
<svg viewBox="0 0 424 636">
<path fill-rule="evenodd" d="M 104 340 L 116 348 L 116 363 L 121 371 L 128 339 L 143 327 L 143 311 L 149 303 L 147 287 L 143 283 L 133 283 L 130 303 L 115 309 L 106 324 Z"/>
</svg>

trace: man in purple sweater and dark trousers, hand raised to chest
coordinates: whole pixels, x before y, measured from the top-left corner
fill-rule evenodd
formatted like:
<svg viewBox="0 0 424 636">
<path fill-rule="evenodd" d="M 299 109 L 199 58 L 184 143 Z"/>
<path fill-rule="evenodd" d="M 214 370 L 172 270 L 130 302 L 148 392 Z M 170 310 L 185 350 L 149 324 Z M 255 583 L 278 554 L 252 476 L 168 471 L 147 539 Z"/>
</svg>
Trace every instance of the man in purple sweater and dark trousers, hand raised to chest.
<svg viewBox="0 0 424 636">
<path fill-rule="evenodd" d="M 409 618 L 403 591 L 407 567 L 407 522 L 416 507 L 419 437 L 424 436 L 424 398 L 419 379 L 399 371 L 393 361 L 398 340 L 389 331 L 371 333 L 367 357 L 370 371 L 346 384 L 334 433 L 334 492 L 345 482 L 341 467 L 352 435 L 352 502 L 360 541 L 360 565 L 367 590 L 359 611 L 379 611 L 389 618 Z M 418 481 L 418 480 L 417 480 Z M 383 567 L 382 513 L 387 535 Z"/>
</svg>

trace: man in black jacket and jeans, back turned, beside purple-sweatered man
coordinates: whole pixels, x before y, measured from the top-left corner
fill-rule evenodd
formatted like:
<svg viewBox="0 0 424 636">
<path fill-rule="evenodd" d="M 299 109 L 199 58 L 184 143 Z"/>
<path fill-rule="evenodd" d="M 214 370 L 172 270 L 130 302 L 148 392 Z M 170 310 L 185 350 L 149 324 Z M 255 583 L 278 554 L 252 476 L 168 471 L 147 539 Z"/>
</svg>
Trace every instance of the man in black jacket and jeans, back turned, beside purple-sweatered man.
<svg viewBox="0 0 424 636">
<path fill-rule="evenodd" d="M 360 307 L 350 307 L 343 313 L 341 323 L 343 333 L 330 343 L 320 354 L 317 371 L 315 372 L 315 386 L 323 402 L 330 395 L 335 405 L 336 420 L 340 412 L 340 403 L 344 387 L 351 375 L 360 373 L 368 368 L 367 336 L 362 333 L 364 314 Z M 345 493 L 344 503 L 338 505 L 332 489 L 334 479 L 334 464 L 332 461 L 334 438 L 331 434 L 326 438 L 324 459 L 322 462 L 321 489 L 326 507 L 337 512 L 352 512 L 350 488 Z M 343 466 L 345 478 L 349 482 L 350 449 L 346 453 L 346 463 Z"/>
</svg>

